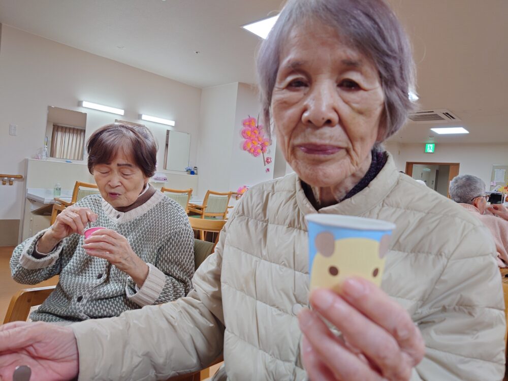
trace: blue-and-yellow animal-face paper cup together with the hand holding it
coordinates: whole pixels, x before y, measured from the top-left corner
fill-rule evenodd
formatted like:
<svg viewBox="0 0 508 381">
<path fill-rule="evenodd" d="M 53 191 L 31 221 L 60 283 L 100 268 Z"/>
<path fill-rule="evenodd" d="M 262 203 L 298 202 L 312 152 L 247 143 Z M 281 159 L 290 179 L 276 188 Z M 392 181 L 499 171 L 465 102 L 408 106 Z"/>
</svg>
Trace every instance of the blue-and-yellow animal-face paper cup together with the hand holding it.
<svg viewBox="0 0 508 381">
<path fill-rule="evenodd" d="M 313 310 L 298 320 L 310 379 L 409 380 L 424 341 L 409 313 L 379 288 L 395 225 L 333 214 L 306 219 Z"/>
</svg>

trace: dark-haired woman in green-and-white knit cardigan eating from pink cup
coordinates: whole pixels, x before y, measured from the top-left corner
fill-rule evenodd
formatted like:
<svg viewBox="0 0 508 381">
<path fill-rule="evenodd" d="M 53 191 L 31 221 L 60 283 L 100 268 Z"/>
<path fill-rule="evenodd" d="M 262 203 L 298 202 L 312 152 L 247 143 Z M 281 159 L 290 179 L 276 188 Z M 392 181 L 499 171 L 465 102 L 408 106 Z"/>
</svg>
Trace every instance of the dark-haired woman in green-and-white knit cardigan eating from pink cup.
<svg viewBox="0 0 508 381">
<path fill-rule="evenodd" d="M 13 278 L 36 284 L 59 274 L 33 321 L 62 324 L 118 316 L 185 296 L 194 273 L 194 236 L 185 211 L 155 190 L 157 145 L 141 126 L 109 124 L 87 143 L 100 195 L 62 211 L 16 247 Z M 85 239 L 88 226 L 104 227 Z"/>
</svg>

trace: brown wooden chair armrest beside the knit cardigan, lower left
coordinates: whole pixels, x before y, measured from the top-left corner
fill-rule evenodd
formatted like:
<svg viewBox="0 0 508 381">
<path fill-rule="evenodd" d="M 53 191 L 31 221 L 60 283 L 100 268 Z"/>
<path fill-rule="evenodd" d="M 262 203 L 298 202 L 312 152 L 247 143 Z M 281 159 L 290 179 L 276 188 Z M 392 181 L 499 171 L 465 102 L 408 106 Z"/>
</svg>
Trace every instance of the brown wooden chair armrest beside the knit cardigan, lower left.
<svg viewBox="0 0 508 381">
<path fill-rule="evenodd" d="M 25 322 L 28 319 L 30 308 L 42 304 L 54 289 L 55 286 L 48 286 L 19 290 L 11 298 L 4 324 L 17 321 Z"/>
</svg>

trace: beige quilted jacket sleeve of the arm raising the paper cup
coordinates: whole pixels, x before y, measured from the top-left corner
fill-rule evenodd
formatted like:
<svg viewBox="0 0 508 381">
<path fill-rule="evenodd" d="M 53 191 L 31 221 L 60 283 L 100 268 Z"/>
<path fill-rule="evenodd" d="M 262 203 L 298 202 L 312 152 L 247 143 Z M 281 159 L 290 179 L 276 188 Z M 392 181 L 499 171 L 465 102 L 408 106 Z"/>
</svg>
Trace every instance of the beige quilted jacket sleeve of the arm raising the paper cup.
<svg viewBox="0 0 508 381">
<path fill-rule="evenodd" d="M 503 378 L 506 323 L 495 247 L 485 227 L 463 228 L 457 232 L 461 242 L 415 316 L 426 354 L 411 381 Z"/>
</svg>

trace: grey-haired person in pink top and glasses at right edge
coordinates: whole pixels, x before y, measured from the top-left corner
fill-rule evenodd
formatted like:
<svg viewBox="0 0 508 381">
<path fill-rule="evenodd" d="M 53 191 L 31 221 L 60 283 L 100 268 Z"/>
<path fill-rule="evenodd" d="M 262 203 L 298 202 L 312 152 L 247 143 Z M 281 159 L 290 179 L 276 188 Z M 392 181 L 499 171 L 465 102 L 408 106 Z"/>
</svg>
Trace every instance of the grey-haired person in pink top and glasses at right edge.
<svg viewBox="0 0 508 381">
<path fill-rule="evenodd" d="M 455 177 L 450 182 L 450 197 L 460 206 L 469 210 L 489 228 L 497 249 L 497 264 L 506 267 L 508 264 L 508 213 L 506 208 L 500 205 L 488 207 L 485 195 L 485 182 L 472 175 Z M 484 214 L 487 210 L 498 215 Z"/>
</svg>

